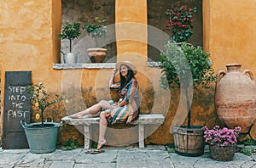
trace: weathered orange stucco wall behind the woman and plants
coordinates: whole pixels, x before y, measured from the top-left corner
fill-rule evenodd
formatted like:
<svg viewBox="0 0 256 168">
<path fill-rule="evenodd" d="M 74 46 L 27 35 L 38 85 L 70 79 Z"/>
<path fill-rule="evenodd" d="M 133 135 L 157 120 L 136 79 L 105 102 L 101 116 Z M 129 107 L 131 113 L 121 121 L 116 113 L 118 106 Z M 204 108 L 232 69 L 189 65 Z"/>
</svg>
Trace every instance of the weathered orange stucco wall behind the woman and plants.
<svg viewBox="0 0 256 168">
<path fill-rule="evenodd" d="M 203 1 L 204 47 L 211 53 L 216 71 L 224 70 L 225 64 L 241 63 L 242 68 L 256 73 L 253 40 L 256 37 L 253 17 L 255 3 L 254 0 L 247 0 L 247 3 L 241 0 Z M 172 91 L 172 98 L 163 98 L 167 91 L 160 89 L 160 69 L 147 66 L 147 0 L 116 0 L 115 5 L 117 60 L 130 60 L 137 65 L 137 81 L 144 96 L 143 113 L 150 112 L 152 107 L 148 108 L 148 104 L 154 103 L 153 112 L 166 116 L 164 124 L 147 137 L 146 143 L 173 143 L 170 126 L 177 113 L 179 95 L 178 91 Z M 53 69 L 53 63 L 60 60 L 60 40 L 57 35 L 61 32 L 61 0 L 3 0 L 0 3 L 0 20 L 2 88 L 4 72 L 8 70 L 32 70 L 32 81 L 44 82 L 49 92 L 61 93 L 63 86 L 66 86 L 70 103 L 65 107 L 61 104 L 50 108 L 56 110 L 55 121 L 60 121 L 67 111 L 79 111 L 93 104 L 96 99 L 90 97 L 108 98 L 105 92 L 109 91 L 104 91 L 104 88 L 108 86 L 106 78 L 111 69 Z M 191 109 L 195 111 L 192 124 L 213 126 L 218 123 L 213 94 L 213 89 L 195 92 Z M 2 89 L 2 100 L 3 95 Z M 3 101 L 1 106 L 3 109 Z M 169 110 L 165 111 L 166 107 Z M 3 112 L 0 123 L 2 134 Z M 64 126 L 61 137 L 66 138 L 61 141 L 72 136 L 78 137 L 79 143 L 83 143 L 83 137 L 76 129 Z"/>
</svg>

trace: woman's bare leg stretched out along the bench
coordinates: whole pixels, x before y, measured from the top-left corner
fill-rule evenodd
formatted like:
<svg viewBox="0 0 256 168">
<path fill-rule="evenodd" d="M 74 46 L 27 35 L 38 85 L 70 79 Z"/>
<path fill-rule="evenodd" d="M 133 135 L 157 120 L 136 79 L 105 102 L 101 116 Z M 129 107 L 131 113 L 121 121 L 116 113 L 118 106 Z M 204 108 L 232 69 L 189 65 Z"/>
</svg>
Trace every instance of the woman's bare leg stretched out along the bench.
<svg viewBox="0 0 256 168">
<path fill-rule="evenodd" d="M 93 115 L 99 112 L 101 109 L 111 109 L 111 108 L 112 106 L 109 105 L 107 100 L 102 100 L 98 104 L 95 104 L 88 109 L 84 109 L 83 111 L 80 111 L 73 115 L 69 115 L 69 117 L 73 119 L 81 119 L 83 118 L 84 115 Z"/>
</svg>

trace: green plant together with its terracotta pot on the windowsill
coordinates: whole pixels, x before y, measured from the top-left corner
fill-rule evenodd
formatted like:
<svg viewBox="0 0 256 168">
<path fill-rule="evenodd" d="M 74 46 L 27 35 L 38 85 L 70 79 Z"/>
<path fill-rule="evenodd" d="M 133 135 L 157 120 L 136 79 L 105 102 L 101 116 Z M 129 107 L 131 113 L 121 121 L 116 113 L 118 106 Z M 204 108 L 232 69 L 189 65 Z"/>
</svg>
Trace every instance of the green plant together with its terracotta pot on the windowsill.
<svg viewBox="0 0 256 168">
<path fill-rule="evenodd" d="M 96 42 L 96 48 L 87 49 L 92 63 L 102 63 L 107 54 L 106 48 L 99 48 L 98 46 L 98 40 L 102 37 L 106 37 L 107 34 L 107 26 L 104 25 L 105 21 L 106 20 L 101 20 L 99 17 L 96 17 L 92 24 L 89 24 L 88 21 L 86 21 L 87 23 L 85 23 L 83 27 L 87 34 L 95 39 Z"/>
</svg>

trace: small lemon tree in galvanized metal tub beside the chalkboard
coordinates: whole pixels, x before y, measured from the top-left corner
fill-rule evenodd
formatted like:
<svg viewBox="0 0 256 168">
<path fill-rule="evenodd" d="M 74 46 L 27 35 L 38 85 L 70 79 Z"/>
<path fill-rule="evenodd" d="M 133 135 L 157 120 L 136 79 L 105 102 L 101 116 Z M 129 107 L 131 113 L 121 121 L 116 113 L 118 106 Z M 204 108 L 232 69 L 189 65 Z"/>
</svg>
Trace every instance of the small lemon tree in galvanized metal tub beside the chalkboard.
<svg viewBox="0 0 256 168">
<path fill-rule="evenodd" d="M 20 123 L 25 129 L 26 139 L 30 151 L 35 154 L 44 154 L 55 151 L 59 128 L 62 124 L 53 121 L 44 121 L 44 110 L 52 104 L 60 103 L 66 98 L 55 95 L 55 98 L 50 100 L 50 95 L 46 92 L 44 84 L 32 84 L 28 86 L 30 89 L 30 101 L 32 111 L 39 111 L 36 114 L 36 119 L 41 119 L 41 122 L 26 124 L 21 120 Z"/>
</svg>

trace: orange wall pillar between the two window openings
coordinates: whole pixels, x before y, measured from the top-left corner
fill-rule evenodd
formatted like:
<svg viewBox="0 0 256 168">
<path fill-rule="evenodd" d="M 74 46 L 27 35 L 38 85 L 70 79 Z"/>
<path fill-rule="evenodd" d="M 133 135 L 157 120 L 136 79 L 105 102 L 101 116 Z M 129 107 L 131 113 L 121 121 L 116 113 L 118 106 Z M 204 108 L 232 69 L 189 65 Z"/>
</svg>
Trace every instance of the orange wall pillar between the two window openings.
<svg viewBox="0 0 256 168">
<path fill-rule="evenodd" d="M 115 5 L 118 61 L 132 60 L 140 54 L 143 57 L 133 62 L 145 67 L 148 42 L 147 0 L 116 0 Z"/>
</svg>

